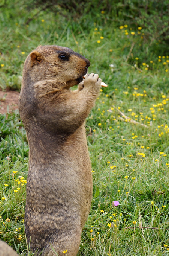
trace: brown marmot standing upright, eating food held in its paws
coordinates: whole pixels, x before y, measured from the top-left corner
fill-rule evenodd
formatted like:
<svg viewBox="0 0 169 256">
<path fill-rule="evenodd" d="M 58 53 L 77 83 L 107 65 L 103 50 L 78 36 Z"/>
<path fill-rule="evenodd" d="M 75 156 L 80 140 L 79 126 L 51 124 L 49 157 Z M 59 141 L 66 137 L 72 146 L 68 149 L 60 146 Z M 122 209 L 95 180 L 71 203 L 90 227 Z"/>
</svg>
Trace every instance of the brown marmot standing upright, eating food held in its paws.
<svg viewBox="0 0 169 256">
<path fill-rule="evenodd" d="M 23 70 L 19 112 L 29 143 L 25 232 L 41 256 L 76 256 L 92 198 L 85 119 L 101 79 L 73 50 L 39 46 Z M 83 80 L 83 81 L 82 81 Z M 74 92 L 70 90 L 78 85 Z"/>
</svg>

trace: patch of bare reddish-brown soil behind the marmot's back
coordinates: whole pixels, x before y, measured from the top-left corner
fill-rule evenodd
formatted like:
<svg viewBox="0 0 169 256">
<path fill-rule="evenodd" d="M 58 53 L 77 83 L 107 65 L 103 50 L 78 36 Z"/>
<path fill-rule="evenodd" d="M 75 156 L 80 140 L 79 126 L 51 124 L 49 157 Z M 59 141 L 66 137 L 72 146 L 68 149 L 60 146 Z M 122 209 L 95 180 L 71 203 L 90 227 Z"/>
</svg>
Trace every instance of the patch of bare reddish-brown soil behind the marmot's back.
<svg viewBox="0 0 169 256">
<path fill-rule="evenodd" d="M 0 91 L 0 113 L 7 113 L 7 106 L 9 106 L 9 112 L 18 109 L 18 98 L 19 93 L 17 91 Z"/>
</svg>

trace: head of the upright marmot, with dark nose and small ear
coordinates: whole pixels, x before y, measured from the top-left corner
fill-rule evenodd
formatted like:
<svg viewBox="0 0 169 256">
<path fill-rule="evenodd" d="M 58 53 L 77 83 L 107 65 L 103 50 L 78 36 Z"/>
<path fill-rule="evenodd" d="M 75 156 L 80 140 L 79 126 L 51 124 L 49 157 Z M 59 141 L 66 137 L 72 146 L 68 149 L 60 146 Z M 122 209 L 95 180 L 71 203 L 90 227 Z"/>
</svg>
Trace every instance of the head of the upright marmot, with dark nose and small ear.
<svg viewBox="0 0 169 256">
<path fill-rule="evenodd" d="M 56 79 L 70 87 L 83 80 L 89 66 L 88 59 L 67 47 L 39 46 L 27 57 L 24 76 L 33 83 Z"/>
</svg>

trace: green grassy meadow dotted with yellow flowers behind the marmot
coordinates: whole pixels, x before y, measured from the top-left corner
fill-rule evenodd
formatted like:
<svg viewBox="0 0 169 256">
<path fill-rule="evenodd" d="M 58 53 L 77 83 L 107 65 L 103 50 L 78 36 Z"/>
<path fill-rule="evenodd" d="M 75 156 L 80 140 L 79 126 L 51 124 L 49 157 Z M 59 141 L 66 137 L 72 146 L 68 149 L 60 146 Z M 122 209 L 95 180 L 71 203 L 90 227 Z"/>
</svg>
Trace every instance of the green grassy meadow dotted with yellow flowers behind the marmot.
<svg viewBox="0 0 169 256">
<path fill-rule="evenodd" d="M 93 201 L 78 256 L 168 255 L 169 1 L 35 2 L 0 5 L 0 89 L 19 91 L 40 44 L 84 55 L 108 84 L 86 122 Z M 0 239 L 22 256 L 28 151 L 18 111 L 0 114 Z"/>
</svg>

